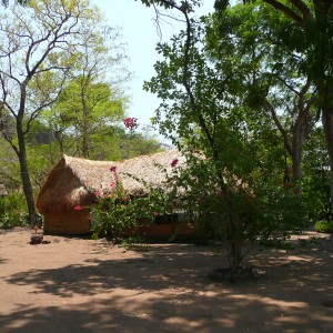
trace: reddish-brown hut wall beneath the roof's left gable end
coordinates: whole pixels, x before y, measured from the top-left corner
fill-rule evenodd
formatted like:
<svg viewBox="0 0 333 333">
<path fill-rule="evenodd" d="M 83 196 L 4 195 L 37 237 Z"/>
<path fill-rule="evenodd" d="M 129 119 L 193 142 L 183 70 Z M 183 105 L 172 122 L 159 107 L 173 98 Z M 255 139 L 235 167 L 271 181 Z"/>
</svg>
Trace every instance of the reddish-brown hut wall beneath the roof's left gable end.
<svg viewBox="0 0 333 333">
<path fill-rule="evenodd" d="M 48 234 L 84 234 L 91 231 L 88 210 L 44 214 L 44 233 Z"/>
</svg>

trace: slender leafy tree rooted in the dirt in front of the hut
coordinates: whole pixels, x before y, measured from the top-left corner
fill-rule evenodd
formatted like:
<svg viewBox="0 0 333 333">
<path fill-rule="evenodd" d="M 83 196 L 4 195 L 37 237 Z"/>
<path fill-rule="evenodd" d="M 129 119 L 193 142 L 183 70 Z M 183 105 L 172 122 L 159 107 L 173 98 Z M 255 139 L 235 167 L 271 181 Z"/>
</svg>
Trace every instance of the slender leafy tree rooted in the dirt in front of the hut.
<svg viewBox="0 0 333 333">
<path fill-rule="evenodd" d="M 223 234 L 230 245 L 230 264 L 234 272 L 243 258 L 245 221 L 241 206 L 244 209 L 250 194 L 244 182 L 252 169 L 245 153 L 251 150 L 248 144 L 251 140 L 245 139 L 242 109 L 229 90 L 234 83 L 232 70 L 225 61 L 209 61 L 201 38 L 203 30 L 201 27 L 195 30 L 186 12 L 185 16 L 191 40 L 186 39 L 188 30 L 173 37 L 171 44 L 158 46 L 164 61 L 154 65 L 157 77 L 147 82 L 145 88 L 163 100 L 155 117 L 161 132 L 179 148 L 189 147 L 206 159 L 198 160 L 195 153 L 190 158 L 193 168 L 190 168 L 191 174 L 185 172 L 184 175 L 190 183 L 183 185 L 194 190 L 191 191 L 194 201 L 213 198 L 206 206 L 210 211 L 204 213 L 210 212 L 210 218 L 216 221 L 216 230 L 220 229 L 220 235 Z M 192 202 L 189 206 L 195 205 Z"/>
</svg>

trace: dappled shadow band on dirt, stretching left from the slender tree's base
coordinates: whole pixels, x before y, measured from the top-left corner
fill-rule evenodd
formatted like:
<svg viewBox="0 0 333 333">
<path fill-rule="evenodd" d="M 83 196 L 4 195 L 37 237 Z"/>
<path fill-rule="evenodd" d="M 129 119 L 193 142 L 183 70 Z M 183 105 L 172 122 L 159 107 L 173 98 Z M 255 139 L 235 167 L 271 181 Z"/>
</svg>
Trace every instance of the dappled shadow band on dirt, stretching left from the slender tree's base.
<svg viewBox="0 0 333 333">
<path fill-rule="evenodd" d="M 189 251 L 190 248 L 192 251 Z M 117 287 L 145 291 L 193 289 L 209 283 L 209 270 L 218 260 L 208 250 L 194 254 L 193 246 L 178 245 L 175 250 L 165 245 L 138 258 L 89 259 L 82 264 L 29 270 L 7 278 L 7 282 L 33 285 L 38 292 L 62 297 L 71 297 L 73 294 L 94 295 Z"/>
</svg>

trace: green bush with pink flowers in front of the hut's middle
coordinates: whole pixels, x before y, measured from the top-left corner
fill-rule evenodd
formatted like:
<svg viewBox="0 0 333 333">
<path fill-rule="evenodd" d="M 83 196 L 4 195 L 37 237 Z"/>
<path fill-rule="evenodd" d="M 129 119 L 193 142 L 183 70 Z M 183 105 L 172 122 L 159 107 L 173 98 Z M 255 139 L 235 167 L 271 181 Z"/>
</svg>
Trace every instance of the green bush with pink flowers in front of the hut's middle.
<svg viewBox="0 0 333 333">
<path fill-rule="evenodd" d="M 95 195 L 95 204 L 89 208 L 77 205 L 74 210 L 90 210 L 93 238 L 105 236 L 113 243 L 121 243 L 124 239 L 132 238 L 135 231 L 144 230 L 157 215 L 165 212 L 165 196 L 161 189 L 153 189 L 137 178 L 134 179 L 148 192 L 129 193 L 122 186 L 117 168 L 111 167 L 110 172 L 115 179 L 110 189 L 90 189 Z M 127 176 L 133 178 L 131 174 Z"/>
</svg>

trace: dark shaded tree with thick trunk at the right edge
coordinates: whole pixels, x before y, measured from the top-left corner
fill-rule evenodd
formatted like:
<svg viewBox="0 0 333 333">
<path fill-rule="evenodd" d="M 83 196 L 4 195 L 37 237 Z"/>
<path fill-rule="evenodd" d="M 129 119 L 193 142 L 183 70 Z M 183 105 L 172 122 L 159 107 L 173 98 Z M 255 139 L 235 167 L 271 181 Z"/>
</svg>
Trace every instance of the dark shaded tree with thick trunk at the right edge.
<svg viewBox="0 0 333 333">
<path fill-rule="evenodd" d="M 331 205 L 333 209 L 333 1 L 263 0 L 292 22 L 287 46 L 306 54 L 303 71 L 314 81 L 322 110 L 331 169 Z M 302 40 L 302 42 L 301 42 Z"/>
</svg>

